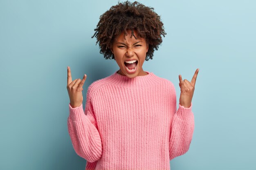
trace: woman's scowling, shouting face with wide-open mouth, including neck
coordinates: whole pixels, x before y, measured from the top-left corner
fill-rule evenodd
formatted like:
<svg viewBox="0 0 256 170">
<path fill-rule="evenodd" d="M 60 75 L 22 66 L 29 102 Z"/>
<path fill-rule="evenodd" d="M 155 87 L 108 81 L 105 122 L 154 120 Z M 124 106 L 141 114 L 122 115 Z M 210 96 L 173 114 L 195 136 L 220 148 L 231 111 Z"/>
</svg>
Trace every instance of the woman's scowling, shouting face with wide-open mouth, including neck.
<svg viewBox="0 0 256 170">
<path fill-rule="evenodd" d="M 134 30 L 134 35 L 137 40 L 132 36 L 131 30 L 127 30 L 128 35 L 126 35 L 126 40 L 124 39 L 124 32 L 116 37 L 113 42 L 111 51 L 115 56 L 115 60 L 120 67 L 118 73 L 121 75 L 126 75 L 129 78 L 136 76 L 147 75 L 148 73 L 144 72 L 142 65 L 146 59 L 146 53 L 148 52 L 148 45 L 146 40 L 137 35 L 137 31 Z M 125 61 L 137 60 L 134 64 L 125 64 Z M 129 69 L 129 68 L 131 69 Z M 132 68 L 135 69 L 132 71 Z"/>
</svg>

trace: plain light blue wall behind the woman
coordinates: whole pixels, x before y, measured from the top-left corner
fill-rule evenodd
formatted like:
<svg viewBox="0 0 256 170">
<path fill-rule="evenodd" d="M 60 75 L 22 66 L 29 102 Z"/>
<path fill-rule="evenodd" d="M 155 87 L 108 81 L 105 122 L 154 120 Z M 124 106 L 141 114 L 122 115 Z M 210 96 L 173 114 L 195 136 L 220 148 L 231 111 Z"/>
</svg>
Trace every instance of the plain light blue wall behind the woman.
<svg viewBox="0 0 256 170">
<path fill-rule="evenodd" d="M 67 66 L 88 86 L 119 69 L 91 38 L 117 0 L 0 0 L 0 170 L 84 170 L 67 132 Z M 166 37 L 144 70 L 169 79 L 200 68 L 189 151 L 172 170 L 255 170 L 256 2 L 141 0 Z"/>
</svg>

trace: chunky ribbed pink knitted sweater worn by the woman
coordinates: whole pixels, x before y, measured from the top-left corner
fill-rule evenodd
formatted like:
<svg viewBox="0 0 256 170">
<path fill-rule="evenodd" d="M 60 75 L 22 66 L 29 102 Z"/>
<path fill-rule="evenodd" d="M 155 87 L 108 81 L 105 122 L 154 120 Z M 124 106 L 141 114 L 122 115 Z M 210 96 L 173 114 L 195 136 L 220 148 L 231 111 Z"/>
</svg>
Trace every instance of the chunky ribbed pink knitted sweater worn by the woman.
<svg viewBox="0 0 256 170">
<path fill-rule="evenodd" d="M 170 170 L 170 160 L 189 150 L 192 102 L 177 110 L 173 83 L 152 72 L 132 79 L 117 72 L 88 87 L 85 111 L 69 104 L 76 154 L 85 170 Z"/>
</svg>

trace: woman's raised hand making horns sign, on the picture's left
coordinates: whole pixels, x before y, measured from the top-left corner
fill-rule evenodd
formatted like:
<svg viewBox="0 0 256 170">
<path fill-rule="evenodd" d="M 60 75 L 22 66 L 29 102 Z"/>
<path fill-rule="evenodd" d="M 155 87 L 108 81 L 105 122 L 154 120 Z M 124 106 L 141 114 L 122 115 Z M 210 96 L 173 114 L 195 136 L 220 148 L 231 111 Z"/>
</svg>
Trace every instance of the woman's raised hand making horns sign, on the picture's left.
<svg viewBox="0 0 256 170">
<path fill-rule="evenodd" d="M 78 107 L 83 103 L 83 84 L 87 75 L 83 75 L 83 79 L 75 79 L 72 81 L 70 67 L 67 66 L 67 92 L 70 97 L 70 106 Z"/>
</svg>

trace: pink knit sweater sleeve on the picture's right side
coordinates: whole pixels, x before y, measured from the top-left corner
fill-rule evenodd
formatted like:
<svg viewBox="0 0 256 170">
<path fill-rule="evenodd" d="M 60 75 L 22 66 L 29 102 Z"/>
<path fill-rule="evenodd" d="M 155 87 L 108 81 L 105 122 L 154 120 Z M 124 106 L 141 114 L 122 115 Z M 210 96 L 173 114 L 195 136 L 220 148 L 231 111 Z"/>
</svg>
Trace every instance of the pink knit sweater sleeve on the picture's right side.
<svg viewBox="0 0 256 170">
<path fill-rule="evenodd" d="M 192 102 L 189 108 L 179 104 L 176 106 L 176 92 L 173 86 L 171 107 L 173 110 L 173 120 L 171 124 L 171 135 L 169 141 L 169 157 L 172 160 L 175 157 L 185 154 L 189 150 L 194 131 L 194 115 L 192 112 Z M 173 114 L 172 113 L 172 114 Z"/>
</svg>

